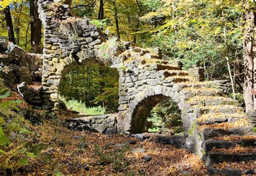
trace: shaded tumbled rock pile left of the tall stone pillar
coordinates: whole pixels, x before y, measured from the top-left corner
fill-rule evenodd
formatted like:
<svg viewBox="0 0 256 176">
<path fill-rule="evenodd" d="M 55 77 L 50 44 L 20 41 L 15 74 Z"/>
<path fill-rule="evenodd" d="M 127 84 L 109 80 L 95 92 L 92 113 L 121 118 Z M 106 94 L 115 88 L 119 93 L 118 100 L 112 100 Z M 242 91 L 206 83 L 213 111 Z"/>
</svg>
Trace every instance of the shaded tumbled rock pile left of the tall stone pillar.
<svg viewBox="0 0 256 176">
<path fill-rule="evenodd" d="M 0 37 L 0 63 L 8 66 L 9 72 L 3 72 L 4 83 L 18 91 L 28 103 L 41 104 L 42 55 L 26 53 L 21 47 Z M 38 82 L 39 86 L 32 82 Z M 18 85 L 18 86 L 17 86 Z M 34 89 L 35 88 L 35 89 Z"/>
</svg>

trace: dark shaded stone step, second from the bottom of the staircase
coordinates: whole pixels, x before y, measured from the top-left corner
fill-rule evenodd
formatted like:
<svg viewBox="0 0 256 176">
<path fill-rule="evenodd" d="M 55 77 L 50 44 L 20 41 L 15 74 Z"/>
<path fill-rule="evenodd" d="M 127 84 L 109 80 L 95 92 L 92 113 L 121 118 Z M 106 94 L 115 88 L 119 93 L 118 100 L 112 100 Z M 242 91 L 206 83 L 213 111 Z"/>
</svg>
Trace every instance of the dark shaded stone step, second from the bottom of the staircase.
<svg viewBox="0 0 256 176">
<path fill-rule="evenodd" d="M 241 162 L 256 160 L 256 153 L 223 153 L 223 152 L 208 152 L 208 160 L 210 163 L 222 162 Z"/>
</svg>

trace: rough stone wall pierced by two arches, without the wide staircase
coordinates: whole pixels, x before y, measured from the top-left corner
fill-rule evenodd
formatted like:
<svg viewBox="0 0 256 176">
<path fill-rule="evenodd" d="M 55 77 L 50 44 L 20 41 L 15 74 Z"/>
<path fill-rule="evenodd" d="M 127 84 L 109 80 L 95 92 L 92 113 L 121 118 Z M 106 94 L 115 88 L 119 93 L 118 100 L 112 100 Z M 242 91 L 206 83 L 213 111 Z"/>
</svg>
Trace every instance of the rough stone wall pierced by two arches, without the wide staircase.
<svg viewBox="0 0 256 176">
<path fill-rule="evenodd" d="M 89 20 L 71 17 L 69 6 L 59 2 L 38 2 L 44 24 L 42 97 L 45 104 L 57 110 L 59 83 L 64 73 L 74 65 L 92 59 L 109 64 L 119 72 L 119 112 L 113 123 L 118 132 L 131 133 L 133 111 L 146 97 L 163 95 L 179 103 L 180 109 L 190 108 L 179 94 L 179 83 L 191 78 L 200 80 L 201 75 L 195 74 L 197 70 L 189 75 L 182 70 L 180 62 L 163 60 L 159 50 L 150 52 L 129 42 L 107 40 L 95 25 L 89 24 Z M 54 13 L 52 8 L 55 8 Z M 59 31 L 63 24 L 79 26 L 76 39 L 63 36 Z M 69 33 L 74 35 L 73 31 Z M 197 114 L 193 118 L 184 115 L 185 132 L 195 118 Z"/>
</svg>

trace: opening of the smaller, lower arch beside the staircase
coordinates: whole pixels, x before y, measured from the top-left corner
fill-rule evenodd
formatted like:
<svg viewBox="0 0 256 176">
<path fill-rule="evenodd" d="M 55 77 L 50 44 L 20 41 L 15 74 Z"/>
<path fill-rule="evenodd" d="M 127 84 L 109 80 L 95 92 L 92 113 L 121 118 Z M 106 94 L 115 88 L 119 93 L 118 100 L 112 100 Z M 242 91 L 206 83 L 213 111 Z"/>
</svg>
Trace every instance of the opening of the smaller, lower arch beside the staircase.
<svg viewBox="0 0 256 176">
<path fill-rule="evenodd" d="M 130 132 L 171 134 L 182 132 L 182 126 L 178 104 L 172 98 L 160 94 L 149 96 L 136 106 Z"/>
</svg>

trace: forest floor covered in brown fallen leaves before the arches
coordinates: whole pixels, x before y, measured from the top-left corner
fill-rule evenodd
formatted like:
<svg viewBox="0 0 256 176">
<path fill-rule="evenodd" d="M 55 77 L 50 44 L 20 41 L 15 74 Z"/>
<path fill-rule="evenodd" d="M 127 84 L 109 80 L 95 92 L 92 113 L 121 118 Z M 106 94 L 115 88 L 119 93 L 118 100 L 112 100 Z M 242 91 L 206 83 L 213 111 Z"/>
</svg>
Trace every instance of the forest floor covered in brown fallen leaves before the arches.
<svg viewBox="0 0 256 176">
<path fill-rule="evenodd" d="M 45 121 L 34 130 L 37 143 L 45 147 L 37 158 L 30 158 L 22 171 L 26 175 L 207 174 L 195 154 L 150 138 L 140 141 L 124 135 L 73 131 L 58 120 Z M 151 158 L 146 161 L 149 158 L 143 156 Z"/>
</svg>

